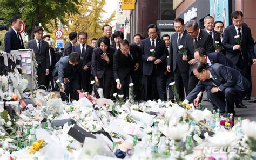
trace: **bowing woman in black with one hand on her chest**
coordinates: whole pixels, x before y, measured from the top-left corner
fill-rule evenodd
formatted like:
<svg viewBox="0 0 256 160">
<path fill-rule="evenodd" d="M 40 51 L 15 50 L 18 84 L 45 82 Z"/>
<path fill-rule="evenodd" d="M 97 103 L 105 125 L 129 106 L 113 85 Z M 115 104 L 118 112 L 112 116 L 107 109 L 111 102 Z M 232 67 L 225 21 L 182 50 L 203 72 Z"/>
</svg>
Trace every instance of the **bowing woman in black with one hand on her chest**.
<svg viewBox="0 0 256 160">
<path fill-rule="evenodd" d="M 97 48 L 92 53 L 92 75 L 97 86 L 103 89 L 104 98 L 110 98 L 113 83 L 113 54 L 114 48 L 110 47 L 110 40 L 106 36 L 99 38 Z"/>
</svg>

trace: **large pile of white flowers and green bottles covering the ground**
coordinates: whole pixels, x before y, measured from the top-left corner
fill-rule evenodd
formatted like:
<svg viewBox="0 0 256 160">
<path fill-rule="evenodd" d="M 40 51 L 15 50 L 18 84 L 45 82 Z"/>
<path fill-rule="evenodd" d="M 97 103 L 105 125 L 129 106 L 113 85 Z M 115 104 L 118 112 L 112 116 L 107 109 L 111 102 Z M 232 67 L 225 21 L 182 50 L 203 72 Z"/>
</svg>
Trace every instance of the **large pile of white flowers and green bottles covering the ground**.
<svg viewBox="0 0 256 160">
<path fill-rule="evenodd" d="M 8 78 L 1 78 L 5 99 L 12 96 Z M 170 85 L 175 102 L 135 102 L 133 84 L 126 101 L 116 93 L 115 101 L 86 93 L 68 103 L 56 93 L 18 91 L 21 105 L 14 115 L 0 103 L 0 159 L 256 157 L 256 122 L 236 122 L 233 115 L 223 118 L 219 110 L 193 104 L 182 106 L 175 83 Z"/>
</svg>

